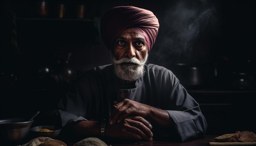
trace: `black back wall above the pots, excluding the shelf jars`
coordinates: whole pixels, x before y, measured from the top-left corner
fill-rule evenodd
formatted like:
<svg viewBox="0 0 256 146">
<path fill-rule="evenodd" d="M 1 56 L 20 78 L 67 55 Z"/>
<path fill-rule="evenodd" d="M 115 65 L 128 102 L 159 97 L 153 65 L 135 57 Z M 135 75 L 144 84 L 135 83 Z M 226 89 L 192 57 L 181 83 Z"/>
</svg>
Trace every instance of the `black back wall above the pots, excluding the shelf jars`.
<svg viewBox="0 0 256 146">
<path fill-rule="evenodd" d="M 246 77 L 253 78 L 250 87 L 245 88 L 255 86 L 256 36 L 253 0 L 46 2 L 48 13 L 42 16 L 38 12 L 37 1 L 9 1 L 10 8 L 5 11 L 5 20 L 8 20 L 4 26 L 9 29 L 5 29 L 3 33 L 3 36 L 9 38 L 3 37 L 3 40 L 11 40 L 15 36 L 11 29 L 16 27 L 17 43 L 7 44 L 7 41 L 3 41 L 2 54 L 6 54 L 2 55 L 5 58 L 2 61 L 2 66 L 6 68 L 3 69 L 4 72 L 12 70 L 9 66 L 16 64 L 15 62 L 19 62 L 18 66 L 23 66 L 26 73 L 31 71 L 30 74 L 36 74 L 33 71 L 38 72 L 45 67 L 53 71 L 59 65 L 58 62 L 65 64 L 69 60 L 69 67 L 74 70 L 74 79 L 78 70 L 111 63 L 110 53 L 99 36 L 100 18 L 112 7 L 133 5 L 153 11 L 159 19 L 159 35 L 150 51 L 149 63 L 165 66 L 175 73 L 178 73 L 175 70 L 177 64 L 198 67 L 199 71 L 203 70 L 202 84 L 207 88 L 218 88 L 218 83 L 214 82 L 216 78 L 218 81 L 228 79 L 223 88 L 229 88 L 233 84 L 232 77 L 239 78 L 242 76 L 240 73 L 246 73 Z M 59 4 L 65 5 L 63 21 L 52 20 L 58 18 Z M 76 9 L 81 4 L 85 6 L 84 18 L 88 21 L 76 21 Z M 12 23 L 10 13 L 16 15 L 15 23 Z M 51 20 L 47 20 L 49 18 Z M 11 24 L 16 26 L 11 27 Z M 18 60 L 16 57 L 10 59 L 15 50 L 19 51 L 16 53 L 20 57 Z M 68 53 L 71 53 L 70 57 Z M 183 82 L 182 77 L 179 78 Z"/>
</svg>

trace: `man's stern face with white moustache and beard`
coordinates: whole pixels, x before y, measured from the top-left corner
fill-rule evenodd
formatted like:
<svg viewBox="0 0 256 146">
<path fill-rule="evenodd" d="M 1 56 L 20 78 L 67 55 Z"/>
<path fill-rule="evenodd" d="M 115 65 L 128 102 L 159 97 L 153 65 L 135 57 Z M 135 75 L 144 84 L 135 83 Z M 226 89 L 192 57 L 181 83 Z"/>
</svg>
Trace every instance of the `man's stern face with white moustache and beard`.
<svg viewBox="0 0 256 146">
<path fill-rule="evenodd" d="M 144 36 L 132 28 L 122 31 L 112 47 L 112 60 L 117 76 L 122 80 L 137 80 L 144 73 L 147 58 Z"/>
</svg>

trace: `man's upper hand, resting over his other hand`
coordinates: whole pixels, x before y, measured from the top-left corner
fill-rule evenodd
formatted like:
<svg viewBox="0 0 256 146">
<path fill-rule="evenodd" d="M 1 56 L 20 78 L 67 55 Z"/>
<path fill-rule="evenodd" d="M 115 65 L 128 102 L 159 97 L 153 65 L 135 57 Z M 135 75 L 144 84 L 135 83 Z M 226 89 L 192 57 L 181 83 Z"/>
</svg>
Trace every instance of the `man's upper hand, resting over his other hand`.
<svg viewBox="0 0 256 146">
<path fill-rule="evenodd" d="M 110 116 L 109 124 L 115 124 L 115 122 L 121 122 L 128 115 L 141 116 L 143 118 L 150 115 L 150 107 L 146 104 L 141 104 L 133 100 L 124 99 L 113 106 L 113 110 Z"/>
</svg>

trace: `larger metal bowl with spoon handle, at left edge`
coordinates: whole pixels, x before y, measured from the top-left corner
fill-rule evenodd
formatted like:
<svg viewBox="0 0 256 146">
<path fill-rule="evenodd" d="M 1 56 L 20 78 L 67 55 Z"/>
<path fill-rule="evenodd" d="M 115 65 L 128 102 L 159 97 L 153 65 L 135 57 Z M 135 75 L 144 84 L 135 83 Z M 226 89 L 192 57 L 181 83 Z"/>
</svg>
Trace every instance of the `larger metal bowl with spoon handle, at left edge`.
<svg viewBox="0 0 256 146">
<path fill-rule="evenodd" d="M 26 139 L 34 120 L 25 120 L 25 118 L 0 119 L 0 141 L 15 143 Z"/>
</svg>

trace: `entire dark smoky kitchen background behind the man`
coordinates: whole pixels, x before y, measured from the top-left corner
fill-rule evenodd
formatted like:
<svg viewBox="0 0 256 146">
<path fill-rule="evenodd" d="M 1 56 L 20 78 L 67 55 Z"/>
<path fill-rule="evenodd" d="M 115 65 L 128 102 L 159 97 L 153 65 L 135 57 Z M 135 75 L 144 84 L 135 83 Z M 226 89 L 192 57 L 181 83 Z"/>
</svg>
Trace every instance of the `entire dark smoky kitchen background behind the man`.
<svg viewBox="0 0 256 146">
<path fill-rule="evenodd" d="M 0 118 L 51 108 L 77 75 L 110 64 L 100 34 L 108 9 L 153 11 L 160 24 L 149 63 L 170 69 L 200 103 L 207 134 L 256 131 L 253 0 L 4 0 Z M 43 6 L 45 4 L 45 6 Z M 65 6 L 59 18 L 59 4 Z M 78 18 L 78 6 L 84 6 Z M 45 10 L 45 11 L 43 11 Z"/>
</svg>

